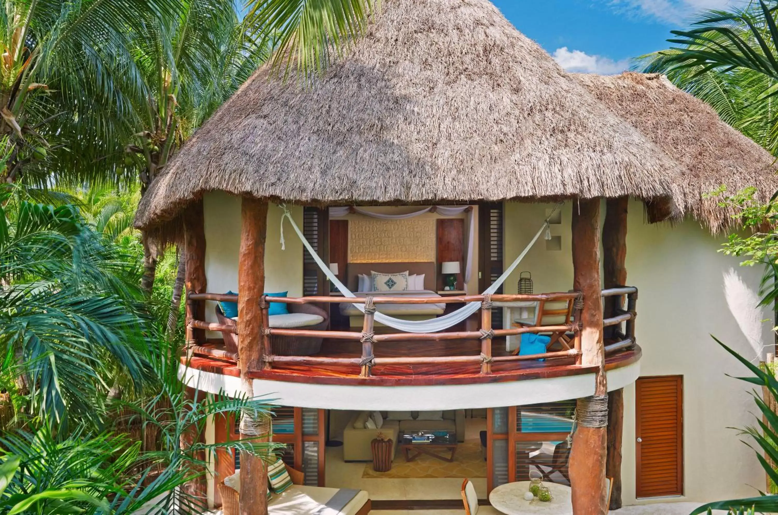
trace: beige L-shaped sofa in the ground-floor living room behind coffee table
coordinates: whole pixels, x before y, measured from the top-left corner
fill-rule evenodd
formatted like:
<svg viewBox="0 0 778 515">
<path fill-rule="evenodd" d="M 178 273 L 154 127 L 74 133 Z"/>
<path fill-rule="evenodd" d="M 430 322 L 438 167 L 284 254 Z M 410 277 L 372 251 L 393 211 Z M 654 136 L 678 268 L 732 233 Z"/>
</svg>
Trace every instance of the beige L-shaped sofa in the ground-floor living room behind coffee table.
<svg viewBox="0 0 778 515">
<path fill-rule="evenodd" d="M 419 412 L 410 412 L 411 418 L 387 420 L 389 412 L 382 411 L 384 425 L 380 429 L 366 429 L 365 422 L 369 411 L 355 412 L 343 430 L 343 461 L 372 461 L 373 451 L 370 442 L 384 433 L 391 438 L 392 456 L 397 452 L 398 440 L 408 431 L 455 431 L 457 442 L 464 442 L 464 409 L 443 411 L 442 420 L 418 420 Z"/>
</svg>

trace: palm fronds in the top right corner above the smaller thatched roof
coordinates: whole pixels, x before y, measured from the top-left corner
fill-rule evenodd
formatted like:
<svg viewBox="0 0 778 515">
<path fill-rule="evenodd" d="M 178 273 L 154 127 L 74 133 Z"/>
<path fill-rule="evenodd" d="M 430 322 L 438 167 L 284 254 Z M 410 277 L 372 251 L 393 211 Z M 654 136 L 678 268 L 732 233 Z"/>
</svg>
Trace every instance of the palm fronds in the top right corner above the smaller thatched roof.
<svg viewBox="0 0 778 515">
<path fill-rule="evenodd" d="M 732 12 L 707 11 L 679 45 L 643 56 L 659 72 L 713 106 L 722 120 L 778 156 L 778 2 L 751 2 Z"/>
</svg>

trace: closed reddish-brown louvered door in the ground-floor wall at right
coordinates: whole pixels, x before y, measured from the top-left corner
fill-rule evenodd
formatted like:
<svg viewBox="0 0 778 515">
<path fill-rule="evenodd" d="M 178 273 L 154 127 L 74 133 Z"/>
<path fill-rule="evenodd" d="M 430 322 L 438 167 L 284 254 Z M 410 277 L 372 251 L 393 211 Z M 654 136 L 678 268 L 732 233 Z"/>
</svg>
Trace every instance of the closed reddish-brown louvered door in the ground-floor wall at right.
<svg viewBox="0 0 778 515">
<path fill-rule="evenodd" d="M 683 378 L 635 383 L 636 494 L 683 495 Z"/>
</svg>

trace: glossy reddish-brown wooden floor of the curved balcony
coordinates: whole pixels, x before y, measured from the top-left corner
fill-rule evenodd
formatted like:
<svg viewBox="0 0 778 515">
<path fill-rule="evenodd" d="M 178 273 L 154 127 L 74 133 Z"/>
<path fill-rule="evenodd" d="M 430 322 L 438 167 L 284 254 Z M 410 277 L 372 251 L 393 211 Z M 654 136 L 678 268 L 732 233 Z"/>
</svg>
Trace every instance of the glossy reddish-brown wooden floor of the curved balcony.
<svg viewBox="0 0 778 515">
<path fill-rule="evenodd" d="M 220 348 L 219 343 L 208 346 Z M 318 357 L 359 357 L 359 342 L 325 339 Z M 375 347 L 376 357 L 433 357 L 478 356 L 478 340 L 450 340 L 446 342 L 398 342 Z M 504 339 L 495 339 L 494 356 L 506 356 Z M 640 347 L 613 353 L 606 358 L 606 370 L 625 367 L 640 359 Z M 216 374 L 240 376 L 234 362 L 215 357 L 195 356 L 191 366 Z M 576 366 L 572 357 L 546 361 L 513 361 L 492 364 L 492 374 L 480 374 L 478 364 L 413 364 L 377 365 L 373 377 L 360 378 L 359 367 L 342 364 L 275 364 L 271 370 L 251 373 L 251 377 L 275 381 L 296 381 L 332 385 L 463 385 L 558 378 L 577 374 L 591 374 L 596 367 Z"/>
</svg>

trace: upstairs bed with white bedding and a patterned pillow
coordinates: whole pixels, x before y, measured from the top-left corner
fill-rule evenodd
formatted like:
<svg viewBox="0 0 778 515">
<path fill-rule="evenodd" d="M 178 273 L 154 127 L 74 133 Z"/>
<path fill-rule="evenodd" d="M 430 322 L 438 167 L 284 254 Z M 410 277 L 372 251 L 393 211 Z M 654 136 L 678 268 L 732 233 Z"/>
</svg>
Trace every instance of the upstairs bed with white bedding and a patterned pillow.
<svg viewBox="0 0 778 515">
<path fill-rule="evenodd" d="M 423 289 L 406 291 L 359 291 L 359 274 L 370 276 L 374 271 L 380 273 L 400 273 L 408 270 L 408 274 L 423 274 Z M 424 263 L 349 263 L 346 266 L 349 290 L 353 291 L 358 298 L 365 298 L 370 294 L 380 297 L 434 297 L 440 298 L 439 294 L 433 290 L 437 277 L 437 266 L 433 262 Z M 362 311 L 351 302 L 342 302 L 339 306 L 342 315 L 349 317 L 349 324 L 359 327 L 363 322 Z M 404 320 L 428 320 L 443 315 L 446 311 L 446 304 L 440 302 L 435 304 L 378 304 L 376 309 L 384 315 L 390 315 Z"/>
</svg>

